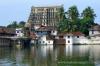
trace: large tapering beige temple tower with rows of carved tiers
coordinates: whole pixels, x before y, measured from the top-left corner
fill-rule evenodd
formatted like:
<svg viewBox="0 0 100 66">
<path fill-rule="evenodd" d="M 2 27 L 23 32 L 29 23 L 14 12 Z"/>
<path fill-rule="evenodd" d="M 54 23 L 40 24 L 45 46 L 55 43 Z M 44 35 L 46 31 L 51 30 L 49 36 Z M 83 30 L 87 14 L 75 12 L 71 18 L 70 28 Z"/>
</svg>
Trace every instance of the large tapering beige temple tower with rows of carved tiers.
<svg viewBox="0 0 100 66">
<path fill-rule="evenodd" d="M 58 17 L 59 9 L 63 6 L 32 6 L 31 13 L 26 26 L 31 24 L 41 24 L 44 26 L 57 26 L 60 18 Z M 29 26 L 30 27 L 30 26 Z"/>
</svg>

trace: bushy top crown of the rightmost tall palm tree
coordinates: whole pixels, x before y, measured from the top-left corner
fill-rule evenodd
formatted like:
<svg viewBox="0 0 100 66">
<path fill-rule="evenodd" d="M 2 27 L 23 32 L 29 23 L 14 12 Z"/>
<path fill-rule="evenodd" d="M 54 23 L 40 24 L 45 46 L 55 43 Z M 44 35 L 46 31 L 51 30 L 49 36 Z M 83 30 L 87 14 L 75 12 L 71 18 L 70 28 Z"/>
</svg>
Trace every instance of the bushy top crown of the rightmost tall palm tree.
<svg viewBox="0 0 100 66">
<path fill-rule="evenodd" d="M 96 14 L 94 13 L 94 10 L 91 7 L 87 7 L 86 9 L 84 9 L 81 15 L 83 18 L 83 22 L 87 24 L 88 27 L 94 25 Z"/>
</svg>

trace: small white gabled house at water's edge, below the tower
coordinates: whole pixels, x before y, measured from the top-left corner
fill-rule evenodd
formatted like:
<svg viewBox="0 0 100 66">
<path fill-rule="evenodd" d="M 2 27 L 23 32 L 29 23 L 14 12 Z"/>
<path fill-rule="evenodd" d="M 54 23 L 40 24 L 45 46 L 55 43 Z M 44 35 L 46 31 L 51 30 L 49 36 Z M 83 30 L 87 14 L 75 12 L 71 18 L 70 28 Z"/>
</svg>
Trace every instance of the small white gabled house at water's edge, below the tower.
<svg viewBox="0 0 100 66">
<path fill-rule="evenodd" d="M 42 45 L 53 45 L 54 41 L 47 35 L 43 35 L 38 39 L 38 44 L 42 44 Z"/>
</svg>

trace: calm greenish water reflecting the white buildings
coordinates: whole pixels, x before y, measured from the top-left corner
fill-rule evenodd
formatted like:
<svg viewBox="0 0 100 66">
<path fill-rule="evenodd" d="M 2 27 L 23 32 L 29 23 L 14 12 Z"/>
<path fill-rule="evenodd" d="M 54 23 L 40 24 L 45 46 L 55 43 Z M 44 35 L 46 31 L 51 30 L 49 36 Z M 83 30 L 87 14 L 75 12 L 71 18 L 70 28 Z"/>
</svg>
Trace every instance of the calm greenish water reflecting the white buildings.
<svg viewBox="0 0 100 66">
<path fill-rule="evenodd" d="M 100 66 L 100 45 L 0 47 L 0 66 Z"/>
</svg>

